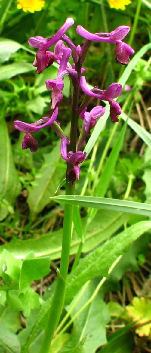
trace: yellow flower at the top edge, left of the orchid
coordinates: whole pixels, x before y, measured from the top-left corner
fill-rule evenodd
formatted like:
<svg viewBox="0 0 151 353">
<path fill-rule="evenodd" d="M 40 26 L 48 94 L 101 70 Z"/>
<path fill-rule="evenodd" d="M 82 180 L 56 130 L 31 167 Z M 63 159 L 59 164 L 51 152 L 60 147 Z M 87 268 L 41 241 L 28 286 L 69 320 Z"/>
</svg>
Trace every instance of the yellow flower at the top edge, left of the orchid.
<svg viewBox="0 0 151 353">
<path fill-rule="evenodd" d="M 17 0 L 17 8 L 22 8 L 23 11 L 35 12 L 41 11 L 45 1 L 43 0 Z"/>
</svg>

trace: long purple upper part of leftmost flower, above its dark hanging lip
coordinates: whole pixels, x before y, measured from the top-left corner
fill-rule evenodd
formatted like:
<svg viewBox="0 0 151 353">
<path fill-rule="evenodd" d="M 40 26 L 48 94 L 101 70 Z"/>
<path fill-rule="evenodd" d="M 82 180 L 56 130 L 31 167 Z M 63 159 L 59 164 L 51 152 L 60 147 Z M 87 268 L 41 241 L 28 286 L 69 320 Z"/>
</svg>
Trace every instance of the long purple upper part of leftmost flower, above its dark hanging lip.
<svg viewBox="0 0 151 353">
<path fill-rule="evenodd" d="M 55 108 L 55 110 L 51 116 L 50 115 L 46 116 L 46 117 L 44 117 L 44 118 L 42 118 L 32 124 L 28 124 L 28 123 L 20 121 L 20 120 L 15 120 L 14 126 L 19 131 L 34 133 L 34 132 L 41 130 L 45 126 L 53 124 L 53 122 L 56 120 L 57 116 L 58 116 L 58 107 Z"/>
</svg>

